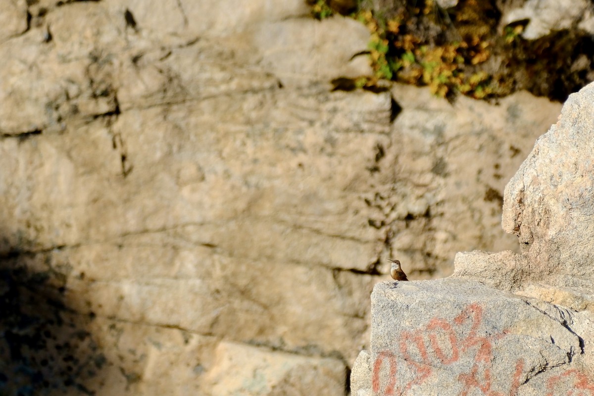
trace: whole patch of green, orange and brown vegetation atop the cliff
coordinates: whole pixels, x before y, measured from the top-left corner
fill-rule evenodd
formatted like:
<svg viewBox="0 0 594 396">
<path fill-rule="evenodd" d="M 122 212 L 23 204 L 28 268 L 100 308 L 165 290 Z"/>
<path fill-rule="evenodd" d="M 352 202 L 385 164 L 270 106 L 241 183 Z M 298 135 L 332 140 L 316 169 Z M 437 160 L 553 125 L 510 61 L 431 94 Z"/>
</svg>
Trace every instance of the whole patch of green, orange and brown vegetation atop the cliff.
<svg viewBox="0 0 594 396">
<path fill-rule="evenodd" d="M 340 14 L 333 9 L 336 0 L 311 1 L 318 19 Z M 460 0 L 447 10 L 434 0 L 394 1 L 382 10 L 371 1 L 356 4 L 346 16 L 371 32 L 374 74 L 356 79 L 355 87 L 373 89 L 380 80 L 392 80 L 426 85 L 448 100 L 458 94 L 490 99 L 519 89 L 564 100 L 594 75 L 594 62 L 574 66 L 580 56 L 590 56 L 592 37 L 565 31 L 527 41 L 525 21 L 498 26 L 501 12 L 494 0 Z"/>
</svg>

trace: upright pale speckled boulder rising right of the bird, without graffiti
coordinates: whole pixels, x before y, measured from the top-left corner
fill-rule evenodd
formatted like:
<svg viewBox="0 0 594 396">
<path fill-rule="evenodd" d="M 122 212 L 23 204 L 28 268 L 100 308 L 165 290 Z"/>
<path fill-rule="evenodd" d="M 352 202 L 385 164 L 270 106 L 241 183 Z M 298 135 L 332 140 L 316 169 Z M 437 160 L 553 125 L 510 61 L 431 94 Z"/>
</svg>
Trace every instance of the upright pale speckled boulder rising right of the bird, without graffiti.
<svg viewBox="0 0 594 396">
<path fill-rule="evenodd" d="M 505 188 L 503 228 L 518 236 L 538 272 L 593 279 L 594 85 L 572 94 Z"/>
</svg>

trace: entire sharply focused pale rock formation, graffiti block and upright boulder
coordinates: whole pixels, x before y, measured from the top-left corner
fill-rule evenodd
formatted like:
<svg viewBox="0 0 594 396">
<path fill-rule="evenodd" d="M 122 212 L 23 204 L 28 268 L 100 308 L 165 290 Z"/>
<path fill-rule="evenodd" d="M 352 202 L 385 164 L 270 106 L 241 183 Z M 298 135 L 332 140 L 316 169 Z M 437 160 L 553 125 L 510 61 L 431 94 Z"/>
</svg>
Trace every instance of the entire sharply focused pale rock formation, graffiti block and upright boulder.
<svg viewBox="0 0 594 396">
<path fill-rule="evenodd" d="M 590 84 L 505 188 L 521 254 L 460 253 L 449 278 L 374 287 L 353 394 L 594 392 L 593 115 Z"/>
</svg>

